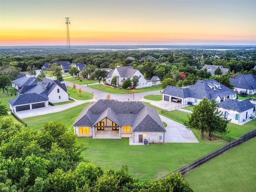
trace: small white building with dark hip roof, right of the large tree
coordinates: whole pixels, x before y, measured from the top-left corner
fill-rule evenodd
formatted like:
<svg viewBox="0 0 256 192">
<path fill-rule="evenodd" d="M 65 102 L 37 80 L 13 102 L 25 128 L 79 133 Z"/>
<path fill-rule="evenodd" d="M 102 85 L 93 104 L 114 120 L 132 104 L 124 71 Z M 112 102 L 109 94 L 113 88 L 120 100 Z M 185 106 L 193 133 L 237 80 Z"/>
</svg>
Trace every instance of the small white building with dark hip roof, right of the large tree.
<svg viewBox="0 0 256 192">
<path fill-rule="evenodd" d="M 233 123 L 241 123 L 246 121 L 253 115 L 254 104 L 249 100 L 233 100 L 227 99 L 219 104 L 219 110 L 223 112 L 224 119 L 231 119 Z"/>
</svg>

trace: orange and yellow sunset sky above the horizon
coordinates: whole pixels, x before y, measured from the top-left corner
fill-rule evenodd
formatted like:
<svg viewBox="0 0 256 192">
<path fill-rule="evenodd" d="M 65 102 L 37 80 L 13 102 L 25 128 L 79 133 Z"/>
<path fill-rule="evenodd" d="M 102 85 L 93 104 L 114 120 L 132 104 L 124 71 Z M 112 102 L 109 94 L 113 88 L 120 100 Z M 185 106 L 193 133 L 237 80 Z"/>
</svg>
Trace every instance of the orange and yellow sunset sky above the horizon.
<svg viewBox="0 0 256 192">
<path fill-rule="evenodd" d="M 256 0 L 0 0 L 0 46 L 256 45 Z"/>
</svg>

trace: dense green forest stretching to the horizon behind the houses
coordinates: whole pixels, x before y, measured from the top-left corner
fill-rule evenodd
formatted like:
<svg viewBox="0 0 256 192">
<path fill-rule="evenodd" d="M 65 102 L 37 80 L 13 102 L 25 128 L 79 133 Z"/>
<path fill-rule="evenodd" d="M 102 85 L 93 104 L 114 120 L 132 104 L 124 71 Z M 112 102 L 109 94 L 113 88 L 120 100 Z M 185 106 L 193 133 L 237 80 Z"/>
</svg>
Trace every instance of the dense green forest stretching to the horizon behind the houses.
<svg viewBox="0 0 256 192">
<path fill-rule="evenodd" d="M 219 48 L 219 47 L 218 47 Z M 161 80 L 172 82 L 176 86 L 188 86 L 198 79 L 211 77 L 206 70 L 200 70 L 205 64 L 228 68 L 228 75 L 237 73 L 256 74 L 256 49 L 207 50 L 199 48 L 164 50 L 98 50 L 88 48 L 72 49 L 72 58 L 66 57 L 64 47 L 54 48 L 1 48 L 0 68 L 2 74 L 10 67 L 27 71 L 40 69 L 45 62 L 69 61 L 83 63 L 97 68 L 133 66 L 144 77 L 158 76 Z M 10 70 L 9 70 L 10 71 Z M 221 72 L 218 71 L 218 75 Z M 228 84 L 228 82 L 226 83 Z M 168 85 L 168 83 L 167 83 Z M 164 88 L 164 87 L 163 87 Z"/>
</svg>

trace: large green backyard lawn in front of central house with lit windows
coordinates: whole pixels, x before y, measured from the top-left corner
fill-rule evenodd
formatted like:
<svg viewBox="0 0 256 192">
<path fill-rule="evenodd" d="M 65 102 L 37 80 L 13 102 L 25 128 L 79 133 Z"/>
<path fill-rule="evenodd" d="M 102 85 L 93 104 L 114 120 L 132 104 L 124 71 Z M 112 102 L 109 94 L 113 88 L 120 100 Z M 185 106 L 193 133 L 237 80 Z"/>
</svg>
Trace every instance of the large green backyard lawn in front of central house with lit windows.
<svg viewBox="0 0 256 192">
<path fill-rule="evenodd" d="M 129 146 L 128 138 L 92 139 L 78 138 L 86 144 L 84 159 L 100 164 L 106 169 L 120 169 L 124 164 L 140 181 L 149 181 L 165 176 L 182 166 L 226 144 L 223 140 L 200 143 L 166 143 L 148 146 Z"/>
</svg>

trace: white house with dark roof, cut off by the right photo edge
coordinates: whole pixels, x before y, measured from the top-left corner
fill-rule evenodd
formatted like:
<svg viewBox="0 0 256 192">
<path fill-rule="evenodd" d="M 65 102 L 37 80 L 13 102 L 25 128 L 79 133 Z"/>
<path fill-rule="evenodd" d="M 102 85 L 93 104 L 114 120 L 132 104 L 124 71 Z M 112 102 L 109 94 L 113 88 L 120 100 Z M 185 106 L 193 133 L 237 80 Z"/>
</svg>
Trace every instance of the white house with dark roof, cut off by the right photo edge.
<svg viewBox="0 0 256 192">
<path fill-rule="evenodd" d="M 256 93 L 256 76 L 252 74 L 237 74 L 230 78 L 230 83 L 238 94 L 253 95 Z"/>
</svg>

